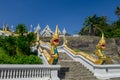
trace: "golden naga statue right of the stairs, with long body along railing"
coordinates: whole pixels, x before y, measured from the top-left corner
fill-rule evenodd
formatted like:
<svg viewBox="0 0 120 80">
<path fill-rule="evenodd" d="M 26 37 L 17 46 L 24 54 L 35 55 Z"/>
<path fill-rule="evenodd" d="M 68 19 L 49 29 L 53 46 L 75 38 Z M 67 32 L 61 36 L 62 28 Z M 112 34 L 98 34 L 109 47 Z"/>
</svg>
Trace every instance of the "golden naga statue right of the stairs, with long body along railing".
<svg viewBox="0 0 120 80">
<path fill-rule="evenodd" d="M 96 45 L 95 54 L 98 56 L 98 58 L 93 57 L 92 55 L 89 55 L 88 53 L 85 53 L 85 52 L 82 52 L 82 51 L 81 52 L 75 52 L 74 50 L 70 49 L 65 43 L 66 42 L 64 42 L 63 45 L 68 50 L 70 50 L 73 54 L 81 55 L 81 56 L 85 57 L 86 59 L 90 60 L 91 62 L 93 62 L 95 64 L 112 64 L 113 63 L 112 60 L 104 54 L 104 51 L 106 49 L 106 41 L 104 39 L 103 32 L 102 32 L 102 38 L 100 39 L 100 41 Z"/>
</svg>

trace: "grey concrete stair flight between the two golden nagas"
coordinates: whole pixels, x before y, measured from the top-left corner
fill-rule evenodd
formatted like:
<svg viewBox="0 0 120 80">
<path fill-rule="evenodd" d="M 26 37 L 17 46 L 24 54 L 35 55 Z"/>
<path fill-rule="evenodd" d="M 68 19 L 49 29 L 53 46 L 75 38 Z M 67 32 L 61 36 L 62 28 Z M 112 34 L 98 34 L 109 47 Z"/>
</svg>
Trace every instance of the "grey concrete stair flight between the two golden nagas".
<svg viewBox="0 0 120 80">
<path fill-rule="evenodd" d="M 62 66 L 58 75 L 61 80 L 98 80 L 81 63 L 74 61 L 65 53 L 60 53 L 58 64 Z"/>
</svg>

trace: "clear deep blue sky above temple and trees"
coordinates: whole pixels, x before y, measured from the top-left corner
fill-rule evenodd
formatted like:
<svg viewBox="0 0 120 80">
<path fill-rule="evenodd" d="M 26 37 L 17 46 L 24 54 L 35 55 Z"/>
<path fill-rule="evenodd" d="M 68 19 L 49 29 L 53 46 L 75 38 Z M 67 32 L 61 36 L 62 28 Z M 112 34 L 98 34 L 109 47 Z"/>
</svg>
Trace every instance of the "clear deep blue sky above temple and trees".
<svg viewBox="0 0 120 80">
<path fill-rule="evenodd" d="M 31 24 L 40 24 L 42 30 L 48 24 L 54 31 L 58 24 L 61 31 L 65 27 L 74 34 L 93 14 L 105 15 L 110 22 L 117 20 L 118 5 L 120 0 L 0 0 L 0 27 L 24 23 L 29 29 Z"/>
</svg>

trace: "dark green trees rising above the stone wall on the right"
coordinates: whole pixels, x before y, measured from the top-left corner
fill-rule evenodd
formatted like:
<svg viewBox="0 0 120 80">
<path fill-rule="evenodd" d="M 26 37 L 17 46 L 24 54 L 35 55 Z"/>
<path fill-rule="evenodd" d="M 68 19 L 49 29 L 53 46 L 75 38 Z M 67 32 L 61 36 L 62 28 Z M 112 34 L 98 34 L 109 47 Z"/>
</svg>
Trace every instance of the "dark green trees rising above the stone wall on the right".
<svg viewBox="0 0 120 80">
<path fill-rule="evenodd" d="M 87 17 L 79 34 L 101 36 L 101 32 L 97 30 L 98 27 L 107 38 L 120 37 L 120 6 L 116 7 L 115 14 L 118 16 L 118 20 L 112 23 L 107 22 L 106 16 L 93 15 Z"/>
</svg>

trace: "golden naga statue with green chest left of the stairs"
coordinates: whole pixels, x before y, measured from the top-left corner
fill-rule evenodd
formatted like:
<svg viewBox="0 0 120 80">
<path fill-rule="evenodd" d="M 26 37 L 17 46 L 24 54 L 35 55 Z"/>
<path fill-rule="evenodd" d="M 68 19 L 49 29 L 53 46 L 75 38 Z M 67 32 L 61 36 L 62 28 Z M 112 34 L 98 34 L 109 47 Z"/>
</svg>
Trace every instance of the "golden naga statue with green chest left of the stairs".
<svg viewBox="0 0 120 80">
<path fill-rule="evenodd" d="M 47 61 L 49 64 L 57 64 L 58 62 L 58 58 L 59 58 L 59 54 L 58 54 L 58 50 L 57 50 L 57 46 L 59 44 L 59 34 L 58 34 L 58 27 L 56 26 L 56 30 L 55 33 L 52 36 L 52 39 L 50 40 L 50 52 L 48 52 L 46 49 L 41 50 L 41 52 L 43 52 L 43 54 L 45 55 Z"/>
</svg>

